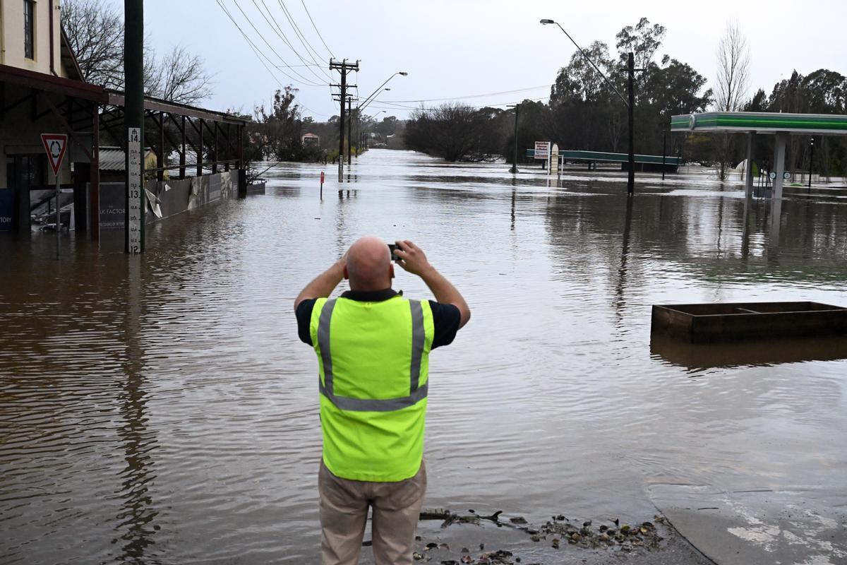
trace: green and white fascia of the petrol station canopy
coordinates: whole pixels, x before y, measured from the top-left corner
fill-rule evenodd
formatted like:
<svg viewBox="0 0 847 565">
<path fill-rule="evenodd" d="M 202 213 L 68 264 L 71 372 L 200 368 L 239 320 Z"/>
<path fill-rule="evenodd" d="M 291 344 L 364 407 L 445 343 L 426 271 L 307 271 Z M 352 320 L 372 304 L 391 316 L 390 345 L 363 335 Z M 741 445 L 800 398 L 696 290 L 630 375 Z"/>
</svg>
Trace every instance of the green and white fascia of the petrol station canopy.
<svg viewBox="0 0 847 565">
<path fill-rule="evenodd" d="M 775 114 L 770 112 L 705 112 L 671 118 L 672 131 L 734 131 L 763 134 L 802 133 L 847 136 L 847 115 Z"/>
</svg>

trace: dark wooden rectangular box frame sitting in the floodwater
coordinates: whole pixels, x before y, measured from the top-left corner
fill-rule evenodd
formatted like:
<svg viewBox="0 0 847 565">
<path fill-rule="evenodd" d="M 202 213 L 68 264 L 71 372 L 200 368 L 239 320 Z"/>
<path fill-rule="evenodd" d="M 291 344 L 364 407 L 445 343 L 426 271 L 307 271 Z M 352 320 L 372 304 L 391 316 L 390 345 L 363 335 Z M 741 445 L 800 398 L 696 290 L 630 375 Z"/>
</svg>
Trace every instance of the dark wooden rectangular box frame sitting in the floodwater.
<svg viewBox="0 0 847 565">
<path fill-rule="evenodd" d="M 847 308 L 820 302 L 654 305 L 650 333 L 689 343 L 847 334 Z"/>
</svg>

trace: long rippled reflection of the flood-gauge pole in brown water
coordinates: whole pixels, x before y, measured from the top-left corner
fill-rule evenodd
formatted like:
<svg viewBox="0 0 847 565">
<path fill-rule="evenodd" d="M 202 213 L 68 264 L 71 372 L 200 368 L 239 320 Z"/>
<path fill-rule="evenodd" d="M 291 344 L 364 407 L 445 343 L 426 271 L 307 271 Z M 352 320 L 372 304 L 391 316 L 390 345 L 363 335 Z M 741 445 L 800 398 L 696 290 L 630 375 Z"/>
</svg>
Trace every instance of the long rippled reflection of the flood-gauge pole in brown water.
<svg viewBox="0 0 847 565">
<path fill-rule="evenodd" d="M 142 375 L 143 351 L 141 350 L 141 259 L 129 260 L 129 292 L 127 316 L 125 319 L 126 375 L 123 391 L 119 396 L 119 413 L 124 424 L 119 429 L 124 444 L 126 466 L 121 472 L 121 492 L 123 505 L 116 517 L 123 534 L 122 555 L 119 561 L 130 563 L 150 563 L 147 548 L 154 543 L 153 534 L 158 526 L 152 522 L 158 515 L 153 507 L 149 487 L 156 475 L 152 469 L 150 453 L 156 446 L 156 438 L 147 430 L 147 391 L 146 380 Z"/>
</svg>

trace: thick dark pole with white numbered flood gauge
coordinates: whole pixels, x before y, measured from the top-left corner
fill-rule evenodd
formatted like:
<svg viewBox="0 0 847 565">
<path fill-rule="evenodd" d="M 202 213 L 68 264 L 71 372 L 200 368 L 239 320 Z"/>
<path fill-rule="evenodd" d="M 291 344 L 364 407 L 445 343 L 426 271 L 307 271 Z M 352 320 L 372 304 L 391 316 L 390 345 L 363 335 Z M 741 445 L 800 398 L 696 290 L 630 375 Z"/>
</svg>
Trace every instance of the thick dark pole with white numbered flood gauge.
<svg viewBox="0 0 847 565">
<path fill-rule="evenodd" d="M 125 252 L 144 251 L 144 2 L 124 0 L 124 75 L 126 82 Z M 96 141 L 96 140 L 95 140 Z"/>
</svg>

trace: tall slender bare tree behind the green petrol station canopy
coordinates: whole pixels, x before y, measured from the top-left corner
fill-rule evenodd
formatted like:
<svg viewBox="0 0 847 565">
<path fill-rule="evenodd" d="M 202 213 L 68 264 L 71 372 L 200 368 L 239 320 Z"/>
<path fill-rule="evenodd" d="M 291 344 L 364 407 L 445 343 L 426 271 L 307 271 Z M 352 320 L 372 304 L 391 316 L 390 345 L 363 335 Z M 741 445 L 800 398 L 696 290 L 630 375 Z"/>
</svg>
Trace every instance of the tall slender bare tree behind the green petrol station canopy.
<svg viewBox="0 0 847 565">
<path fill-rule="evenodd" d="M 750 47 L 737 21 L 730 21 L 717 44 L 717 80 L 715 80 L 715 109 L 719 112 L 738 112 L 744 107 L 750 88 Z M 734 153 L 733 138 L 722 134 L 717 143 L 718 176 L 726 180 L 727 169 Z"/>
</svg>

